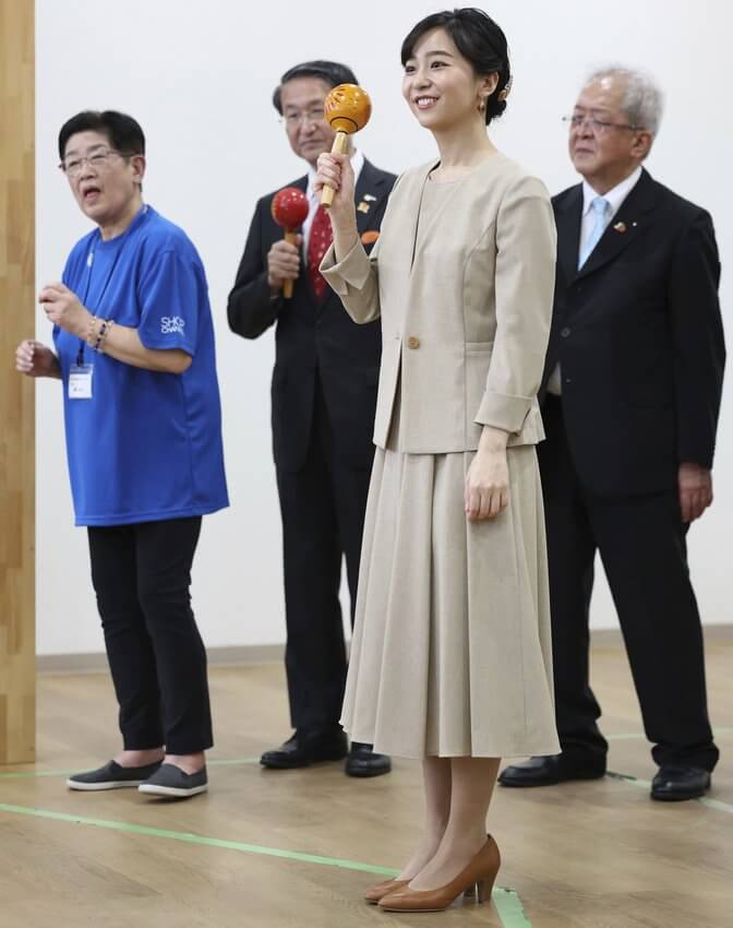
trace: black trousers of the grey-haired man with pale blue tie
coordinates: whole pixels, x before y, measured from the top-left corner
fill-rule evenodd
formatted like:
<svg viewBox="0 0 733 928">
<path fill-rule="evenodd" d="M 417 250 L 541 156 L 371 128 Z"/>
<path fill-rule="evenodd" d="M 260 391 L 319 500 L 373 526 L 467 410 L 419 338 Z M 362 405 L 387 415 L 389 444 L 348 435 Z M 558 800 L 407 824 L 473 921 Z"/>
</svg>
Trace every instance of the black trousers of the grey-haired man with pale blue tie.
<svg viewBox="0 0 733 928">
<path fill-rule="evenodd" d="M 600 706 L 589 685 L 588 612 L 601 556 L 658 764 L 711 771 L 702 631 L 687 569 L 676 489 L 599 497 L 573 466 L 562 401 L 548 396 L 546 441 L 538 447 L 548 528 L 557 729 L 564 753 L 604 759 Z"/>
</svg>

